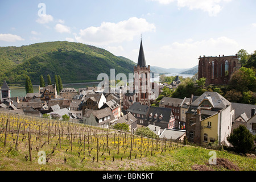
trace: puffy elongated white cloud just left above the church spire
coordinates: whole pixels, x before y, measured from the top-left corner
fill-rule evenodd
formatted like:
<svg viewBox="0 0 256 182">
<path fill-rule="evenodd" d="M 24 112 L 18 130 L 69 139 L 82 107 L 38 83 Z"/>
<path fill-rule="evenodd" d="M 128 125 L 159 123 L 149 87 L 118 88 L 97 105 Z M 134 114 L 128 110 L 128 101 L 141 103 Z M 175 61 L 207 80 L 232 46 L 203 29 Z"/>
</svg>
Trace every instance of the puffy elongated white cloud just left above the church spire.
<svg viewBox="0 0 256 182">
<path fill-rule="evenodd" d="M 143 18 L 129 18 L 118 23 L 103 22 L 100 27 L 88 27 L 75 35 L 78 42 L 93 45 L 108 45 L 133 40 L 143 32 L 155 31 L 155 26 Z"/>
</svg>

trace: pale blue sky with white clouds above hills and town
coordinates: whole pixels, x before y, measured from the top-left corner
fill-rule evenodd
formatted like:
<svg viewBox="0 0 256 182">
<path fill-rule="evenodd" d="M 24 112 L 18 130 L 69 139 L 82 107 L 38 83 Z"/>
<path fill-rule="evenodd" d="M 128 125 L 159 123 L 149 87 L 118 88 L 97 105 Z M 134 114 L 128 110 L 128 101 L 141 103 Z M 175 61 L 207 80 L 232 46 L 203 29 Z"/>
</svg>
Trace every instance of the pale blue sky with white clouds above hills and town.
<svg viewBox="0 0 256 182">
<path fill-rule="evenodd" d="M 255 0 L 1 1 L 0 46 L 67 40 L 137 62 L 142 34 L 148 65 L 191 68 L 203 55 L 253 53 L 255 7 Z"/>
</svg>

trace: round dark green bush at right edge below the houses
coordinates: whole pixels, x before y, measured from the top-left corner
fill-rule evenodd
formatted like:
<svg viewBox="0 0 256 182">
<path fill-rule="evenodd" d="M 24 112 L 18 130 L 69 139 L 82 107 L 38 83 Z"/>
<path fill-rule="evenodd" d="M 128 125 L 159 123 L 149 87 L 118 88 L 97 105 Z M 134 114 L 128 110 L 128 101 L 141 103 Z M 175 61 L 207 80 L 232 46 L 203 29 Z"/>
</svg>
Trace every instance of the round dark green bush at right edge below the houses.
<svg viewBox="0 0 256 182">
<path fill-rule="evenodd" d="M 241 152 L 242 154 L 250 151 L 254 145 L 254 137 L 244 125 L 240 125 L 237 129 L 234 129 L 227 140 L 234 146 L 237 152 Z"/>
</svg>

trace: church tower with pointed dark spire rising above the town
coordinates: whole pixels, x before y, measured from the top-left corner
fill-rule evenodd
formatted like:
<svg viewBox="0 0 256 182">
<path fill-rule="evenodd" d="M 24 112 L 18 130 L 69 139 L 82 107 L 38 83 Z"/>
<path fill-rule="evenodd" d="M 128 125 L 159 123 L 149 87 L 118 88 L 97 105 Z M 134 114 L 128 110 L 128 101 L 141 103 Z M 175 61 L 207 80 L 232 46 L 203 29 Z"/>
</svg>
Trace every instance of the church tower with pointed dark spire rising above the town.
<svg viewBox="0 0 256 182">
<path fill-rule="evenodd" d="M 139 48 L 137 66 L 134 66 L 134 90 L 137 94 L 136 102 L 150 105 L 150 65 L 146 65 L 142 40 Z"/>
</svg>

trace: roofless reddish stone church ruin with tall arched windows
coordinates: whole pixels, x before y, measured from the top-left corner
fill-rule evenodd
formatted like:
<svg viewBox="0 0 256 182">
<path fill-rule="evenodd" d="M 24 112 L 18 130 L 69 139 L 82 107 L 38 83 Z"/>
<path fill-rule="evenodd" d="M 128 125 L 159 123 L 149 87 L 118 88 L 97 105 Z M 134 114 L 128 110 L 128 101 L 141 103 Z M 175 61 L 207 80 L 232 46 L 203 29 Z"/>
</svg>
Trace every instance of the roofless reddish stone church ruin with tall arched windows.
<svg viewBox="0 0 256 182">
<path fill-rule="evenodd" d="M 241 68 L 237 54 L 235 56 L 199 57 L 198 79 L 207 78 L 205 85 L 226 85 L 232 73 Z"/>
</svg>

